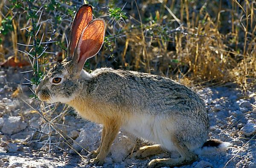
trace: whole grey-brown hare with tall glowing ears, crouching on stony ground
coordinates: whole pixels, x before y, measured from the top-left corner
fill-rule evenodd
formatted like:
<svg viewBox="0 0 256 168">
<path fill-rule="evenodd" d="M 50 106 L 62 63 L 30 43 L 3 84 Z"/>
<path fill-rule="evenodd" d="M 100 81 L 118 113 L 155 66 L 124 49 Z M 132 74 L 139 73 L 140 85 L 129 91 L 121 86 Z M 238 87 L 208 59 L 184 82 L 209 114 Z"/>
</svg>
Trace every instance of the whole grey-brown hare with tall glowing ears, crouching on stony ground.
<svg viewBox="0 0 256 168">
<path fill-rule="evenodd" d="M 99 68 L 83 70 L 96 55 L 105 36 L 105 21 L 92 17 L 83 5 L 71 28 L 67 58 L 49 69 L 35 93 L 39 100 L 72 106 L 81 117 L 103 125 L 101 144 L 88 157 L 102 165 L 120 128 L 156 145 L 140 148 L 137 157 L 162 149 L 179 158 L 153 159 L 149 167 L 189 164 L 204 151 L 224 150 L 230 144 L 207 140 L 209 119 L 203 100 L 190 88 L 169 78 L 135 71 Z"/>
</svg>

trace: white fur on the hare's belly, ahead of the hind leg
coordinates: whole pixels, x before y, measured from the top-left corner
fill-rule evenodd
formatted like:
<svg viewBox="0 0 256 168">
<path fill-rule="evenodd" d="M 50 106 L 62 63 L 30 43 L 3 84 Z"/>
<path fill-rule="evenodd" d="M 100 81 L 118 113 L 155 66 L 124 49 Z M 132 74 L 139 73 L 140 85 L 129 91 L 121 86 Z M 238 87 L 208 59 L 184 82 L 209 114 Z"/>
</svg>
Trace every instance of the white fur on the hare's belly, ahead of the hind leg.
<svg viewBox="0 0 256 168">
<path fill-rule="evenodd" d="M 170 120 L 146 114 L 133 115 L 127 119 L 122 125 L 125 131 L 154 144 L 160 144 L 169 151 L 175 150 L 172 143 L 175 128 Z"/>
</svg>

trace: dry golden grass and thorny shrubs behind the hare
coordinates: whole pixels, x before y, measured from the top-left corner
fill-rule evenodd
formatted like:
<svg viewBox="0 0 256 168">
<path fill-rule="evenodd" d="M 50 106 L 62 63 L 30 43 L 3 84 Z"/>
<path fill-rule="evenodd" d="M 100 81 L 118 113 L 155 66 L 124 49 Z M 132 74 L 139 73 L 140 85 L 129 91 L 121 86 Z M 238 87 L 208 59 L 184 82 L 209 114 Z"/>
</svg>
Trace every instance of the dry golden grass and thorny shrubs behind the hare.
<svg viewBox="0 0 256 168">
<path fill-rule="evenodd" d="M 44 42 L 43 49 L 46 49 L 44 57 L 38 60 L 43 65 L 57 60 L 52 53 L 62 51 L 61 56 L 65 57 L 63 48 L 67 46 L 66 34 L 69 34 L 72 17 L 64 14 L 67 10 L 47 13 L 42 5 L 39 6 L 40 1 L 35 2 L 38 2 L 35 3 L 38 10 L 34 22 L 39 27 L 35 32 L 36 39 Z M 95 16 L 103 16 L 107 20 L 107 41 L 113 51 L 109 51 L 108 47 L 103 48 L 98 57 L 89 60 L 88 69 L 111 66 L 151 71 L 194 84 L 236 82 L 244 88 L 247 88 L 248 80 L 256 77 L 254 0 L 241 4 L 236 0 L 220 3 L 188 0 L 164 0 L 162 3 L 151 0 L 138 4 L 136 1 L 89 3 L 95 6 Z M 64 7 L 72 5 L 60 4 Z M 23 5 L 27 6 L 25 2 Z M 76 5 L 80 4 L 77 2 Z M 126 24 L 108 16 L 105 8 L 108 5 L 123 8 L 128 16 Z M 29 10 L 17 13 L 22 9 L 10 11 L 6 6 L 8 2 L 2 1 L 0 21 L 12 16 L 13 29 L 8 34 L 12 38 L 2 36 L 1 59 L 15 56 L 17 61 L 28 60 L 28 54 L 17 51 L 32 50 L 29 45 L 33 45 L 33 37 L 27 37 L 32 31 L 32 19 L 26 20 Z M 58 15 L 61 21 L 56 19 Z M 55 41 L 58 41 L 58 45 Z M 35 64 L 35 60 L 30 61 Z"/>
</svg>

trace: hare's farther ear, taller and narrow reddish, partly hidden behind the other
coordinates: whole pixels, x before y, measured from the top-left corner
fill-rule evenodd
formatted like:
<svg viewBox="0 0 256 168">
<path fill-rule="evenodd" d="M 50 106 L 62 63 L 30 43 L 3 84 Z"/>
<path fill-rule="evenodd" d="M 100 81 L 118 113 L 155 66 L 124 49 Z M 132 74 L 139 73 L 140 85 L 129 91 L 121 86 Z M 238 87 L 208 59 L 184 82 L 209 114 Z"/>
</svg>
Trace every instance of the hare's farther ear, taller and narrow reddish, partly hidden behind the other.
<svg viewBox="0 0 256 168">
<path fill-rule="evenodd" d="M 93 20 L 93 7 L 88 4 L 80 6 L 71 26 L 68 56 L 73 57 L 79 37 L 91 20 Z"/>
</svg>

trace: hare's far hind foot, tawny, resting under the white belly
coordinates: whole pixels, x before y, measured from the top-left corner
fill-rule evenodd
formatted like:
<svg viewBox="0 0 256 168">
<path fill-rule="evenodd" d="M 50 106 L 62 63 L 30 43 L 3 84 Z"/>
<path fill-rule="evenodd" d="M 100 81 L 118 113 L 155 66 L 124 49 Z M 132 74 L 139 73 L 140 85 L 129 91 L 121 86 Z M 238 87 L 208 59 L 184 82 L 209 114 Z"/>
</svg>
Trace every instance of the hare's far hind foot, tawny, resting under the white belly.
<svg viewBox="0 0 256 168">
<path fill-rule="evenodd" d="M 155 154 L 160 154 L 162 152 L 163 152 L 163 149 L 158 144 L 150 145 L 150 146 L 143 146 L 134 154 L 134 157 L 143 159 L 143 158 L 155 155 Z"/>
</svg>

